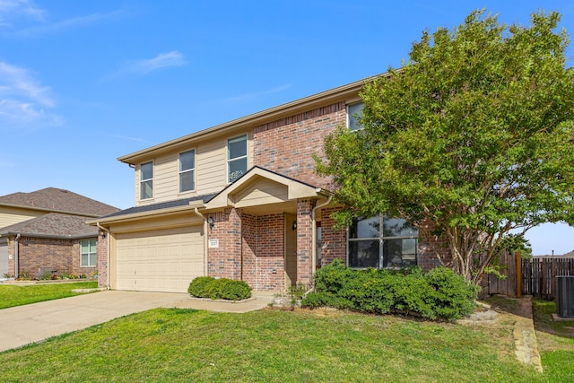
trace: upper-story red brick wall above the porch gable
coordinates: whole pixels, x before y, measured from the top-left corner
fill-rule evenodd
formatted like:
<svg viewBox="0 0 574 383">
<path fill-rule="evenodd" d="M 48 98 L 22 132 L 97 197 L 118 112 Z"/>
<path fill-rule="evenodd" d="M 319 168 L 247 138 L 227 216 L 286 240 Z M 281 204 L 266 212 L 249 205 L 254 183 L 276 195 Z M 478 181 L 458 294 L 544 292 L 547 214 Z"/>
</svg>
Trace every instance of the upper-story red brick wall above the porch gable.
<svg viewBox="0 0 574 383">
<path fill-rule="evenodd" d="M 315 174 L 313 153 L 321 154 L 326 135 L 345 121 L 345 103 L 337 102 L 256 126 L 254 163 L 310 185 L 332 188 L 330 178 Z"/>
</svg>

